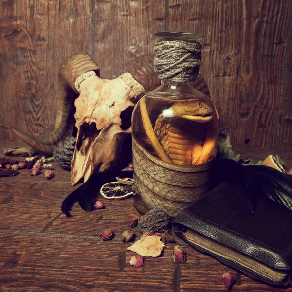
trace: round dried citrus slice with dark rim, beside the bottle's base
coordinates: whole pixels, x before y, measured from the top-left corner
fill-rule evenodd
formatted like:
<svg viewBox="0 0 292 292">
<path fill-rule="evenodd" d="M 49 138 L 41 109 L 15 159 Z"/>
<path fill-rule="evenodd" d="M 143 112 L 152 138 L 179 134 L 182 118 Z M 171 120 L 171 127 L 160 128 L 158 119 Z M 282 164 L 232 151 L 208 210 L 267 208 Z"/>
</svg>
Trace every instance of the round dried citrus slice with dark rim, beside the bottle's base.
<svg viewBox="0 0 292 292">
<path fill-rule="evenodd" d="M 121 200 L 133 195 L 133 187 L 131 185 L 119 182 L 111 182 L 104 184 L 100 193 L 109 200 Z"/>
</svg>

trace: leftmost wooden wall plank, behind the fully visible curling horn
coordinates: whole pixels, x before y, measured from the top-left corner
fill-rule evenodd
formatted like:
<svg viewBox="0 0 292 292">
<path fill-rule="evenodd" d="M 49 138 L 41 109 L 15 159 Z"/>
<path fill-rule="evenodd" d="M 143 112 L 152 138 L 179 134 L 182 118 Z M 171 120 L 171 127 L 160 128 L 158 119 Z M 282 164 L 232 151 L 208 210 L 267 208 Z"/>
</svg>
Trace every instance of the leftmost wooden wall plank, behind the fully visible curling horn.
<svg viewBox="0 0 292 292">
<path fill-rule="evenodd" d="M 45 135 L 55 126 L 61 61 L 92 54 L 91 1 L 0 2 L 0 139 L 16 140 L 15 126 Z"/>
</svg>

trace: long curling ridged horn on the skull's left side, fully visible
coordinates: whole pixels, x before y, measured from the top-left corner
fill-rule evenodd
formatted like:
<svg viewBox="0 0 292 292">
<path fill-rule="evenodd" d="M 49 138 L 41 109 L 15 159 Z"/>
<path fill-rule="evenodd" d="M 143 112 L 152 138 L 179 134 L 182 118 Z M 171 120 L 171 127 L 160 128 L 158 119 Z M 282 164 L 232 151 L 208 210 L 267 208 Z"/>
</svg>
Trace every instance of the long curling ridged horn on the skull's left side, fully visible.
<svg viewBox="0 0 292 292">
<path fill-rule="evenodd" d="M 99 74 L 99 68 L 88 53 L 78 53 L 66 59 L 61 66 L 57 89 L 57 115 L 55 128 L 44 137 L 35 137 L 17 128 L 12 131 L 25 143 L 38 152 L 52 154 L 58 142 L 72 135 L 74 127 L 74 100 L 77 97 L 75 89 L 76 78 L 88 71 L 94 70 Z"/>
</svg>

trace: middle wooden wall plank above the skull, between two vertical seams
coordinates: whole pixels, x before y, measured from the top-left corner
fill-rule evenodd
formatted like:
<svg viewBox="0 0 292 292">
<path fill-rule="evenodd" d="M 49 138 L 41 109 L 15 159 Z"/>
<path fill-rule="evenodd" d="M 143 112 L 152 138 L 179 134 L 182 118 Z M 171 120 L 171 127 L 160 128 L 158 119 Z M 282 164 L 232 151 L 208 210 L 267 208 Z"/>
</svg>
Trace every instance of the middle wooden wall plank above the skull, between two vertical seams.
<svg viewBox="0 0 292 292">
<path fill-rule="evenodd" d="M 164 30 L 165 3 L 150 0 L 94 1 L 95 60 L 101 77 L 124 73 L 124 64 L 153 52 L 153 34 Z"/>
</svg>

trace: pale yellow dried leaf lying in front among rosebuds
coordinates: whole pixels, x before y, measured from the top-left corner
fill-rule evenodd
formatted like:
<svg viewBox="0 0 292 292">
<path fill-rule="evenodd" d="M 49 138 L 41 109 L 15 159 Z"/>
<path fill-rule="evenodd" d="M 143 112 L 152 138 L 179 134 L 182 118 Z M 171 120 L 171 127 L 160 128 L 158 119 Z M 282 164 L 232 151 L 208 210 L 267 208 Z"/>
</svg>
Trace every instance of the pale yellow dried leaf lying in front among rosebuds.
<svg viewBox="0 0 292 292">
<path fill-rule="evenodd" d="M 135 252 L 140 256 L 157 257 L 162 253 L 165 244 L 160 241 L 157 235 L 146 236 L 136 241 L 133 245 L 127 248 L 128 251 Z"/>
</svg>

